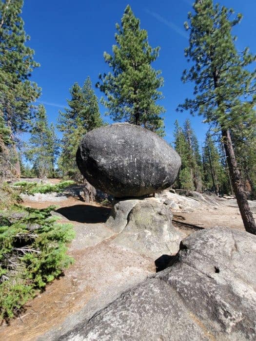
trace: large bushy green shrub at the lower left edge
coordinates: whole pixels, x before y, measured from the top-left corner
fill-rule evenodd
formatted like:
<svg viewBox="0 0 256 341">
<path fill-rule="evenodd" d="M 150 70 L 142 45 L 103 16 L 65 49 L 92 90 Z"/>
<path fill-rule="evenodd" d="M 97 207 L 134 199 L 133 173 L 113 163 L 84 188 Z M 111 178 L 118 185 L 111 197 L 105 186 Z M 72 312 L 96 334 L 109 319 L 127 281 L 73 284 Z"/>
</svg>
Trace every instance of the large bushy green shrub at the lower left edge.
<svg viewBox="0 0 256 341">
<path fill-rule="evenodd" d="M 13 206 L 0 211 L 0 317 L 16 316 L 23 305 L 73 263 L 66 243 L 72 225 L 59 224 L 51 211 Z"/>
</svg>

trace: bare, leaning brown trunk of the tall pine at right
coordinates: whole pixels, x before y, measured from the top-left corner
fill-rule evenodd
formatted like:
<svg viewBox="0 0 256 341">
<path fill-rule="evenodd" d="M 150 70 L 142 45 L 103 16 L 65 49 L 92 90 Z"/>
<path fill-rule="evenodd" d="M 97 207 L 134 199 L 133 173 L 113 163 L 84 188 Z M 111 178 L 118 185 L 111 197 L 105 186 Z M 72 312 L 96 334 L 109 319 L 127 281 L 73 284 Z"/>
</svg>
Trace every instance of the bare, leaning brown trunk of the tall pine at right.
<svg viewBox="0 0 256 341">
<path fill-rule="evenodd" d="M 230 132 L 229 130 L 222 130 L 221 133 L 230 170 L 231 181 L 236 194 L 237 205 L 241 213 L 245 230 L 252 234 L 256 234 L 256 225 L 253 218 L 253 213 L 250 210 L 246 193 L 242 184 L 242 177 L 240 171 L 237 168 Z"/>
</svg>

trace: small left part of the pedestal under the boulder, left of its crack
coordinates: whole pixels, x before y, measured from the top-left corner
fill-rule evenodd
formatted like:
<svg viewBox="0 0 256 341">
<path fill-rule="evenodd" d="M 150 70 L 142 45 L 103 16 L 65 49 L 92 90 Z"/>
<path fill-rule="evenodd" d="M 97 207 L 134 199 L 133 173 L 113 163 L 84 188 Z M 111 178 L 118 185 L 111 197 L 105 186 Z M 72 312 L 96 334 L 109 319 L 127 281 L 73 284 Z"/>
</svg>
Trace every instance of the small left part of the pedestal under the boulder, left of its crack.
<svg viewBox="0 0 256 341">
<path fill-rule="evenodd" d="M 120 200 L 112 208 L 106 226 L 114 232 L 121 232 L 127 225 L 128 215 L 132 208 L 138 204 L 138 199 Z"/>
</svg>

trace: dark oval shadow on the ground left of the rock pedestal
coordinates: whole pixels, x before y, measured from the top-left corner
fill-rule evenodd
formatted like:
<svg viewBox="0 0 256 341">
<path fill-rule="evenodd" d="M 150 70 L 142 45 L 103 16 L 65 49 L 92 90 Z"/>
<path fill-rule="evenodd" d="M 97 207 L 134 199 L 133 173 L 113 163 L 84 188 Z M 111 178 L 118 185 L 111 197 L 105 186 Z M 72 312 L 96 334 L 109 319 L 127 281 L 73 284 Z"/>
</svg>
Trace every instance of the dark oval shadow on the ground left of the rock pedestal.
<svg viewBox="0 0 256 341">
<path fill-rule="evenodd" d="M 92 205 L 74 205 L 56 210 L 67 219 L 78 223 L 96 224 L 105 223 L 111 208 Z"/>
</svg>

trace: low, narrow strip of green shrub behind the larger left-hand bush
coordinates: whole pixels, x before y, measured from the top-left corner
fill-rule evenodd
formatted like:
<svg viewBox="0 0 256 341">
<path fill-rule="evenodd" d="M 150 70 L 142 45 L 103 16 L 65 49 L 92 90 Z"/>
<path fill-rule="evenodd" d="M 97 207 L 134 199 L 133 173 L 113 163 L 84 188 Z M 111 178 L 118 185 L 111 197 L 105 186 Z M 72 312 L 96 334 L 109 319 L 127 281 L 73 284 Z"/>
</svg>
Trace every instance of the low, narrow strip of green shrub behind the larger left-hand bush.
<svg viewBox="0 0 256 341">
<path fill-rule="evenodd" d="M 25 194 L 35 194 L 35 193 L 50 193 L 50 192 L 61 192 L 66 187 L 73 185 L 74 181 L 62 181 L 58 184 L 38 184 L 37 182 L 27 182 L 27 181 L 19 181 L 13 184 L 14 187 L 17 187 L 21 193 Z"/>
</svg>

